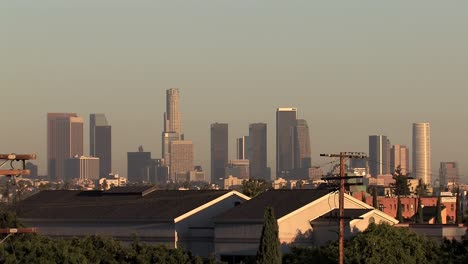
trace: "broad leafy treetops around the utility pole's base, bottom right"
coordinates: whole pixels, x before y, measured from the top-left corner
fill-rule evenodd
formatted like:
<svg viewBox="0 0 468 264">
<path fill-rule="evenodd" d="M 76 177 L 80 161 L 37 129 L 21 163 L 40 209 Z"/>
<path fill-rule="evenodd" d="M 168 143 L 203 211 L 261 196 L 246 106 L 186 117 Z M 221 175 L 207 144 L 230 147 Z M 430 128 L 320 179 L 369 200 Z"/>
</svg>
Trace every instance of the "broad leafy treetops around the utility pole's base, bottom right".
<svg viewBox="0 0 468 264">
<path fill-rule="evenodd" d="M 345 263 L 453 263 L 440 261 L 440 249 L 435 240 L 408 228 L 370 224 L 367 230 L 346 241 Z M 333 241 L 321 247 L 292 248 L 284 256 L 284 263 L 335 264 L 337 259 L 338 243 Z"/>
</svg>

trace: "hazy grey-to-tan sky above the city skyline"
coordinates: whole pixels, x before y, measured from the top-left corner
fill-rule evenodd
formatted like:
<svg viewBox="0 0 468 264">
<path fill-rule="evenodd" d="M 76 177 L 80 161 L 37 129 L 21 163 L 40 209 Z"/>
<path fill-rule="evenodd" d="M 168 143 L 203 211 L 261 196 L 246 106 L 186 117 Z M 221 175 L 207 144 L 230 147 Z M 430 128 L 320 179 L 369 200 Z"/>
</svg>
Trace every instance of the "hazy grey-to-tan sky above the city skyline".
<svg viewBox="0 0 468 264">
<path fill-rule="evenodd" d="M 209 171 L 209 131 L 235 138 L 298 107 L 319 153 L 368 152 L 384 134 L 411 147 L 432 126 L 432 171 L 468 173 L 468 1 L 0 1 L 0 152 L 37 153 L 46 113 L 105 113 L 113 167 L 126 152 L 161 156 L 165 90 L 181 91 L 183 131 Z M 209 174 L 208 174 L 209 176 Z"/>
</svg>

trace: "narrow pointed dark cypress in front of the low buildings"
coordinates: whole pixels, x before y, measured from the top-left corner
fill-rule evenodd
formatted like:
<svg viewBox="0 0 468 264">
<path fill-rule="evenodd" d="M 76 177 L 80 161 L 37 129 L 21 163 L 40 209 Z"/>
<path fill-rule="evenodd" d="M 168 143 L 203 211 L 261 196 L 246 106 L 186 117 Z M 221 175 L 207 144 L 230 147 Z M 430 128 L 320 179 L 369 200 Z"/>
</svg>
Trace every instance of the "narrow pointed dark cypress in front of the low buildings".
<svg viewBox="0 0 468 264">
<path fill-rule="evenodd" d="M 257 250 L 257 264 L 280 264 L 281 244 L 279 241 L 279 228 L 272 207 L 265 209 L 262 236 Z"/>
</svg>

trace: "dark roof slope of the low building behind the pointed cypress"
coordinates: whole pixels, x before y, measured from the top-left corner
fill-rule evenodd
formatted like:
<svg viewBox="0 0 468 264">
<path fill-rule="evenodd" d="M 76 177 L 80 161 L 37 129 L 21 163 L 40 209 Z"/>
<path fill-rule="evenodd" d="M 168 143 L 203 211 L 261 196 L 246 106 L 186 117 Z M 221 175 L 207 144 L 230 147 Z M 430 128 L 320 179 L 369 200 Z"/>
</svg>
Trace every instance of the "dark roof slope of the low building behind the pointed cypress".
<svg viewBox="0 0 468 264">
<path fill-rule="evenodd" d="M 276 219 L 330 193 L 327 190 L 269 190 L 215 218 L 218 222 L 262 222 L 265 208 L 273 207 Z"/>
</svg>

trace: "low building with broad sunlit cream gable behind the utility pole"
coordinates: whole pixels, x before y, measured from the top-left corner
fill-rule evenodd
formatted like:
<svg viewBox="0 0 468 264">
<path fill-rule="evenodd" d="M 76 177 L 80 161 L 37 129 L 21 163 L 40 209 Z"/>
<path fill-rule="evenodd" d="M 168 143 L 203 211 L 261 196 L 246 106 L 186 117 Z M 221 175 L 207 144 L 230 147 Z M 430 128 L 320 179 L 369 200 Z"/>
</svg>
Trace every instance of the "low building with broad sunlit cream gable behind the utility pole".
<svg viewBox="0 0 468 264">
<path fill-rule="evenodd" d="M 273 207 L 279 226 L 282 251 L 291 245 L 321 245 L 337 239 L 338 192 L 327 190 L 269 190 L 215 218 L 215 251 L 222 261 L 239 262 L 257 252 L 265 208 Z M 372 206 L 345 195 L 347 235 L 364 231 L 369 223 L 398 221 Z M 349 211 L 351 210 L 351 211 Z M 335 214 L 335 216 L 333 216 Z M 324 217 L 334 217 L 323 220 Z"/>
</svg>

